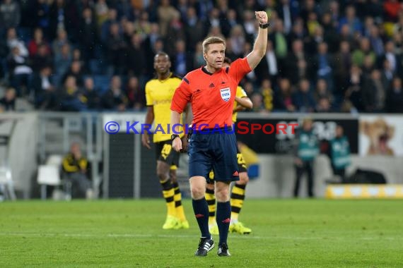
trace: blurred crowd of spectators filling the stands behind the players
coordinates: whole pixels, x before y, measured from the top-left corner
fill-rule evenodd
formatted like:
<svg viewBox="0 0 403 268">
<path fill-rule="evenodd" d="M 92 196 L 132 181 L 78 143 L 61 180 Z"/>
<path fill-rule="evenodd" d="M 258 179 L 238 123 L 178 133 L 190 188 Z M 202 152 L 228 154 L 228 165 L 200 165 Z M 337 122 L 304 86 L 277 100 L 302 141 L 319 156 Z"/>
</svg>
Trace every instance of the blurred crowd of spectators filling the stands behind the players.
<svg viewBox="0 0 403 268">
<path fill-rule="evenodd" d="M 252 111 L 403 112 L 403 4 L 380 0 L 1 0 L 0 110 L 141 111 L 153 56 L 177 75 L 201 42 L 246 56 L 269 13 L 266 56 L 243 80 Z"/>
</svg>

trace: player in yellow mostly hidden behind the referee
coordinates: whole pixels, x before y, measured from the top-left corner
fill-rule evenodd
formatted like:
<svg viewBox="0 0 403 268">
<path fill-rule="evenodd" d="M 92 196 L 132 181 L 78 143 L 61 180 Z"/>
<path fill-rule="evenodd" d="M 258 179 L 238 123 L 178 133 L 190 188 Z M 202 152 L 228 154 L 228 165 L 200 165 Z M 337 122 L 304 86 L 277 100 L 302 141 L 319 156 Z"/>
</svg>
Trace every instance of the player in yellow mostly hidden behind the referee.
<svg viewBox="0 0 403 268">
<path fill-rule="evenodd" d="M 230 66 L 230 59 L 224 59 L 223 67 Z M 245 90 L 242 87 L 238 86 L 236 89 L 236 96 L 233 108 L 233 123 L 236 122 L 238 111 L 243 111 L 245 109 L 252 109 L 253 104 L 250 99 L 247 97 Z M 245 188 L 247 182 L 249 181 L 249 177 L 247 176 L 247 169 L 245 160 L 243 159 L 243 155 L 240 153 L 239 148 L 237 147 L 237 159 L 238 159 L 238 173 L 239 173 L 239 181 L 235 181 L 235 185 L 233 186 L 231 196 L 230 196 L 230 204 L 231 204 L 231 221 L 230 221 L 230 229 L 231 233 L 241 233 L 247 234 L 251 233 L 252 230 L 243 225 L 242 222 L 238 221 L 238 215 L 240 213 L 240 209 L 243 207 L 243 200 L 245 200 Z M 216 197 L 214 195 L 214 173 L 213 171 L 209 174 L 209 180 L 206 184 L 206 201 L 207 205 L 209 205 L 209 229 L 211 234 L 218 235 L 218 227 L 216 224 Z"/>
</svg>

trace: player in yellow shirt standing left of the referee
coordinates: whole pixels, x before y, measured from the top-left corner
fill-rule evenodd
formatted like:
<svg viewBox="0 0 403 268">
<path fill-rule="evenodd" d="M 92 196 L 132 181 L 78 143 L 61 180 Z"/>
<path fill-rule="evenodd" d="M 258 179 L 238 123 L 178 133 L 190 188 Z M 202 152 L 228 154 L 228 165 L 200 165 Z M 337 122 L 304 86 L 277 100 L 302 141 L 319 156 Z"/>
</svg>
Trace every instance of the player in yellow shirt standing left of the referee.
<svg viewBox="0 0 403 268">
<path fill-rule="evenodd" d="M 163 188 L 168 213 L 163 229 L 188 229 L 189 222 L 182 206 L 182 195 L 176 180 L 176 169 L 180 153 L 172 150 L 170 123 L 170 104 L 173 94 L 182 79 L 170 71 L 170 58 L 165 52 L 154 57 L 156 78 L 146 83 L 146 124 L 155 123 L 153 142 L 156 144 L 157 175 Z M 182 122 L 181 122 L 182 123 Z M 160 130 L 160 131 L 159 131 Z M 182 138 L 184 135 L 180 135 Z M 141 142 L 151 149 L 150 138 L 144 131 Z"/>
</svg>

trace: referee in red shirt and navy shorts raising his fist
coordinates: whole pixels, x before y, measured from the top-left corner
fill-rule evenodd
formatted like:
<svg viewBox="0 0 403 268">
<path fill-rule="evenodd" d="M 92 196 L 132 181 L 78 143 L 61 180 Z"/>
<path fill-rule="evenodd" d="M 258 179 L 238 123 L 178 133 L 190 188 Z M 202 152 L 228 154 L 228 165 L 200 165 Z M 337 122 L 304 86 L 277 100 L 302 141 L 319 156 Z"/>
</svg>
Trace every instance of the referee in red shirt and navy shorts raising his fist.
<svg viewBox="0 0 403 268">
<path fill-rule="evenodd" d="M 216 181 L 216 220 L 220 241 L 218 256 L 230 256 L 227 245 L 230 224 L 230 183 L 238 181 L 236 159 L 236 138 L 232 130 L 233 104 L 236 87 L 243 77 L 252 71 L 266 54 L 267 13 L 255 12 L 259 21 L 259 32 L 253 50 L 243 59 L 237 59 L 230 67 L 223 68 L 226 43 L 218 37 L 209 37 L 203 42 L 203 56 L 206 66 L 185 75 L 175 90 L 170 106 L 171 126 L 180 123 L 180 115 L 187 102 L 193 111 L 193 135 L 189 142 L 189 182 L 192 192 L 194 215 L 202 237 L 195 255 L 206 256 L 214 248 L 214 240 L 209 232 L 209 207 L 204 193 L 206 178 L 211 169 Z M 175 128 L 173 131 L 178 131 Z M 177 133 L 177 132 L 176 132 Z M 182 149 L 179 135 L 173 134 L 173 148 Z"/>
</svg>

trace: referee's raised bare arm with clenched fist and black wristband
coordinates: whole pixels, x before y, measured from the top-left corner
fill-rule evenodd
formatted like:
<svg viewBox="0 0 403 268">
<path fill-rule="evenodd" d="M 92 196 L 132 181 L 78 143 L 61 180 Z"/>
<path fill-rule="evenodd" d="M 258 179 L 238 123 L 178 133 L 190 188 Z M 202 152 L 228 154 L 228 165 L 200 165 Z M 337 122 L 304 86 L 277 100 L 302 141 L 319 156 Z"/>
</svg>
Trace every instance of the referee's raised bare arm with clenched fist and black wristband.
<svg viewBox="0 0 403 268">
<path fill-rule="evenodd" d="M 256 11 L 255 16 L 260 25 L 267 25 L 269 22 L 269 17 L 265 11 Z M 256 68 L 257 64 L 259 64 L 264 57 L 264 54 L 266 54 L 267 32 L 267 28 L 262 29 L 259 27 L 253 50 L 246 56 L 247 63 L 249 63 L 252 70 Z"/>
</svg>

